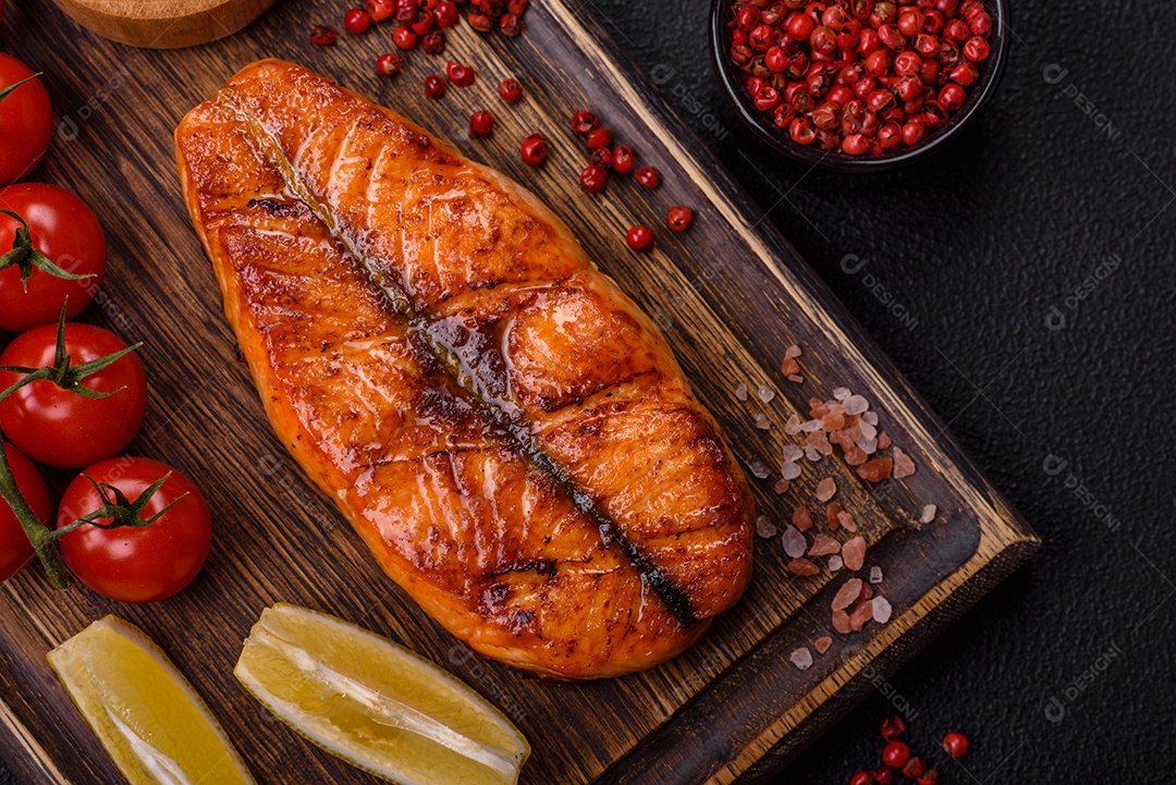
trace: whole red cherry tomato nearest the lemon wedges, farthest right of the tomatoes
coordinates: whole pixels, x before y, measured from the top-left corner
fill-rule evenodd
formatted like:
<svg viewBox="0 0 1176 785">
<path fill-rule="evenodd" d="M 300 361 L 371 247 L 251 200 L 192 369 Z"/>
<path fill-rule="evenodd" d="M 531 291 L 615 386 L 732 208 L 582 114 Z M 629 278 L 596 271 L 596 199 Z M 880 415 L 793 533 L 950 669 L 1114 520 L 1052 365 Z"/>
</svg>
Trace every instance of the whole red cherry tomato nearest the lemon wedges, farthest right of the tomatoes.
<svg viewBox="0 0 1176 785">
<path fill-rule="evenodd" d="M 58 528 L 102 505 L 89 479 L 113 485 L 134 502 L 169 471 L 172 476 L 152 496 L 142 517 L 151 518 L 173 502 L 175 506 L 154 523 L 119 529 L 83 525 L 58 541 L 66 565 L 79 581 L 103 597 L 125 603 L 153 603 L 192 583 L 212 545 L 208 504 L 192 481 L 175 469 L 159 461 L 129 457 L 102 461 L 86 469 L 61 497 Z"/>
</svg>

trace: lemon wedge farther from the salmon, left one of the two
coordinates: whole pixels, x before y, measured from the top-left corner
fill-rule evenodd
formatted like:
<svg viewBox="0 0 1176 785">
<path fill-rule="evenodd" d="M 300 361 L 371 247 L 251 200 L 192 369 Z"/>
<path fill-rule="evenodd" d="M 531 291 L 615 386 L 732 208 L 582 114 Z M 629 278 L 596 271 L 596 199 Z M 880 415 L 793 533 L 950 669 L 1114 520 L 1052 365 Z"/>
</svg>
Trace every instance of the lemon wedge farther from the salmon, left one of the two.
<svg viewBox="0 0 1176 785">
<path fill-rule="evenodd" d="M 107 616 L 48 659 L 132 785 L 253 784 L 208 706 L 135 625 Z"/>
</svg>

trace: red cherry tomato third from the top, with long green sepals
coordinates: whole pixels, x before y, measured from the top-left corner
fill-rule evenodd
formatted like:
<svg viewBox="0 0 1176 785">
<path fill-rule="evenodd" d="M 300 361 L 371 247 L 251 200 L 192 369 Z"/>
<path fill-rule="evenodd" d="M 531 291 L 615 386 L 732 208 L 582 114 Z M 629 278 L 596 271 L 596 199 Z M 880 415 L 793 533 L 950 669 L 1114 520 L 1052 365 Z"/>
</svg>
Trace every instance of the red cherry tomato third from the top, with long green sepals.
<svg viewBox="0 0 1176 785">
<path fill-rule="evenodd" d="M 45 324 L 18 336 L 0 354 L 0 365 L 39 368 L 53 363 L 56 326 Z M 126 349 L 119 336 L 93 324 L 66 324 L 71 365 Z M 20 375 L 0 371 L 0 389 Z M 0 429 L 26 455 L 51 467 L 76 469 L 118 455 L 131 443 L 147 414 L 147 377 L 134 354 L 114 361 L 81 381 L 105 398 L 89 398 L 39 380 L 0 402 Z"/>
</svg>

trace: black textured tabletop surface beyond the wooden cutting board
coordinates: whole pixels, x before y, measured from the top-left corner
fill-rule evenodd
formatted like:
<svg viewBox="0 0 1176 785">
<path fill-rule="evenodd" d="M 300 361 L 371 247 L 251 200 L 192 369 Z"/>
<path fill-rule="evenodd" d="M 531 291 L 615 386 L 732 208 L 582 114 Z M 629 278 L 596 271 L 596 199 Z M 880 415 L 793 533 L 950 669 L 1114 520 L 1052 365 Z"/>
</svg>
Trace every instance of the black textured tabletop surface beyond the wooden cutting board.
<svg viewBox="0 0 1176 785">
<path fill-rule="evenodd" d="M 909 170 L 849 177 L 779 159 L 739 125 L 710 71 L 706 0 L 586 4 L 1045 541 L 781 783 L 877 765 L 884 695 L 909 704 L 911 742 L 944 783 L 1176 771 L 1176 5 L 1013 5 L 1007 75 L 969 132 Z M 856 274 L 850 254 L 868 260 Z M 1068 462 L 1054 475 L 1050 455 Z M 961 763 L 937 751 L 949 730 L 973 739 Z"/>
</svg>

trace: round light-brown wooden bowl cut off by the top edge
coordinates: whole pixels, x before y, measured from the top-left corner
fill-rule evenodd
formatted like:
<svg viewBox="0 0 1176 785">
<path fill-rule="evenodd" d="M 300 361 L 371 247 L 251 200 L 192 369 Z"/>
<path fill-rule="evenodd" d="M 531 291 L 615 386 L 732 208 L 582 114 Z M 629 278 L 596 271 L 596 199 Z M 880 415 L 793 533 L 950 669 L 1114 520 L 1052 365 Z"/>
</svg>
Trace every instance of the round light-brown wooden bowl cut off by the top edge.
<svg viewBox="0 0 1176 785">
<path fill-rule="evenodd" d="M 232 35 L 274 0 L 54 0 L 75 22 L 102 38 L 175 49 Z"/>
</svg>

